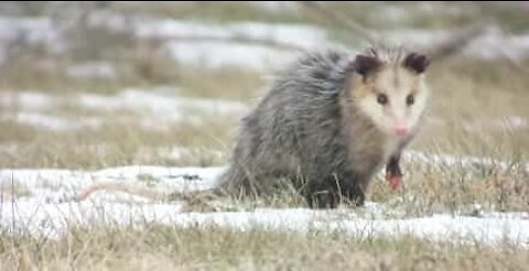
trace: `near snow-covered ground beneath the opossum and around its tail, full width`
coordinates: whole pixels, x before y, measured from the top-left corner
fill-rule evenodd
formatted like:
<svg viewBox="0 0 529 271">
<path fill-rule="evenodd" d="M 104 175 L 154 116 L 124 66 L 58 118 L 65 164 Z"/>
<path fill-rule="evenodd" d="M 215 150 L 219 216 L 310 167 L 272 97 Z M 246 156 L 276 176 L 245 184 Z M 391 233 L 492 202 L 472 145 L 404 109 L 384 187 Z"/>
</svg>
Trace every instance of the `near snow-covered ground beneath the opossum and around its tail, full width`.
<svg viewBox="0 0 529 271">
<path fill-rule="evenodd" d="M 417 153 L 411 154 L 419 156 Z M 432 161 L 438 161 L 434 158 Z M 427 161 L 428 162 L 428 161 Z M 106 225 L 217 225 L 247 229 L 260 227 L 304 231 L 341 230 L 354 237 L 412 235 L 434 241 L 508 241 L 529 247 L 529 213 L 483 213 L 479 217 L 434 214 L 414 218 L 388 218 L 392 209 L 368 203 L 360 209 L 260 208 L 245 212 L 183 213 L 182 203 L 149 202 L 118 192 L 96 192 L 75 202 L 94 183 L 155 184 L 155 189 L 205 189 L 225 167 L 126 166 L 95 172 L 68 170 L 0 170 L 4 187 L 0 227 L 11 234 L 61 237 L 72 227 Z M 10 197 L 13 186 L 28 188 L 26 196 Z M 13 199 L 14 198 L 14 199 Z M 395 217 L 395 216 L 393 216 Z"/>
</svg>

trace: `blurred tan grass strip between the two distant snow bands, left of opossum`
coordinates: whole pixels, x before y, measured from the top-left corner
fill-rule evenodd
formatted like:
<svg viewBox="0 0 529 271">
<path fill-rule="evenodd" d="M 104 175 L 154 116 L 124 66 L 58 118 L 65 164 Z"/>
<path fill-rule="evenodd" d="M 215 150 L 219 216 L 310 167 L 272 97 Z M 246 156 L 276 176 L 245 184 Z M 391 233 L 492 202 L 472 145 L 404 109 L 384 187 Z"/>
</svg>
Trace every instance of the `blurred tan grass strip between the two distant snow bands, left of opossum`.
<svg viewBox="0 0 529 271">
<path fill-rule="evenodd" d="M 153 53 L 154 54 L 154 53 Z M 36 57 L 15 59 L 0 67 L 0 91 L 31 89 L 50 94 L 95 93 L 111 95 L 125 88 L 150 88 L 171 86 L 181 95 L 190 97 L 223 98 L 246 101 L 262 87 L 263 75 L 251 69 L 235 67 L 203 68 L 182 66 L 170 61 L 169 56 L 158 55 L 147 58 L 118 58 L 114 64 L 116 78 L 75 78 L 67 75 L 67 62 Z M 222 90 L 219 90 L 222 89 Z"/>
</svg>

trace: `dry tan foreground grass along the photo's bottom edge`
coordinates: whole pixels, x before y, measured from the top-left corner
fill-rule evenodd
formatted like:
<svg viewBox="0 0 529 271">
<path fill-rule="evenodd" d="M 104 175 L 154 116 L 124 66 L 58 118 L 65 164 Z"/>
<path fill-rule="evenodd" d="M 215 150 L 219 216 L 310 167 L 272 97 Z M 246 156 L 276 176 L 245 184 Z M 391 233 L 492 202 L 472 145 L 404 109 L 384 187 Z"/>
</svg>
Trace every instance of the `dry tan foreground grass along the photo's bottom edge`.
<svg viewBox="0 0 529 271">
<path fill-rule="evenodd" d="M 434 243 L 343 232 L 217 227 L 76 229 L 58 240 L 1 236 L 2 270 L 525 270 L 507 243 Z M 285 257 L 288 256 L 288 257 Z"/>
</svg>

